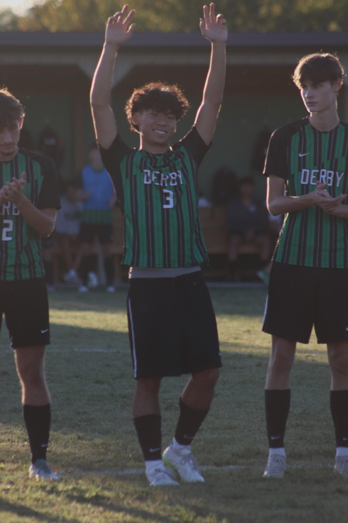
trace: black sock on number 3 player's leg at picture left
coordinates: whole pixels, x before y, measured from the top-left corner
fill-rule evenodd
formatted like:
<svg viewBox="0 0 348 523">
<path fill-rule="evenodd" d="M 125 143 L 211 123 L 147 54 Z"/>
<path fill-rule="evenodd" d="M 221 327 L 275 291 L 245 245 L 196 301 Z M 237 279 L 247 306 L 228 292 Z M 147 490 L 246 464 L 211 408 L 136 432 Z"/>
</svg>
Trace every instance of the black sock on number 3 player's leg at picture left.
<svg viewBox="0 0 348 523">
<path fill-rule="evenodd" d="M 134 418 L 134 425 L 145 461 L 162 459 L 161 415 L 139 416 Z"/>
</svg>

